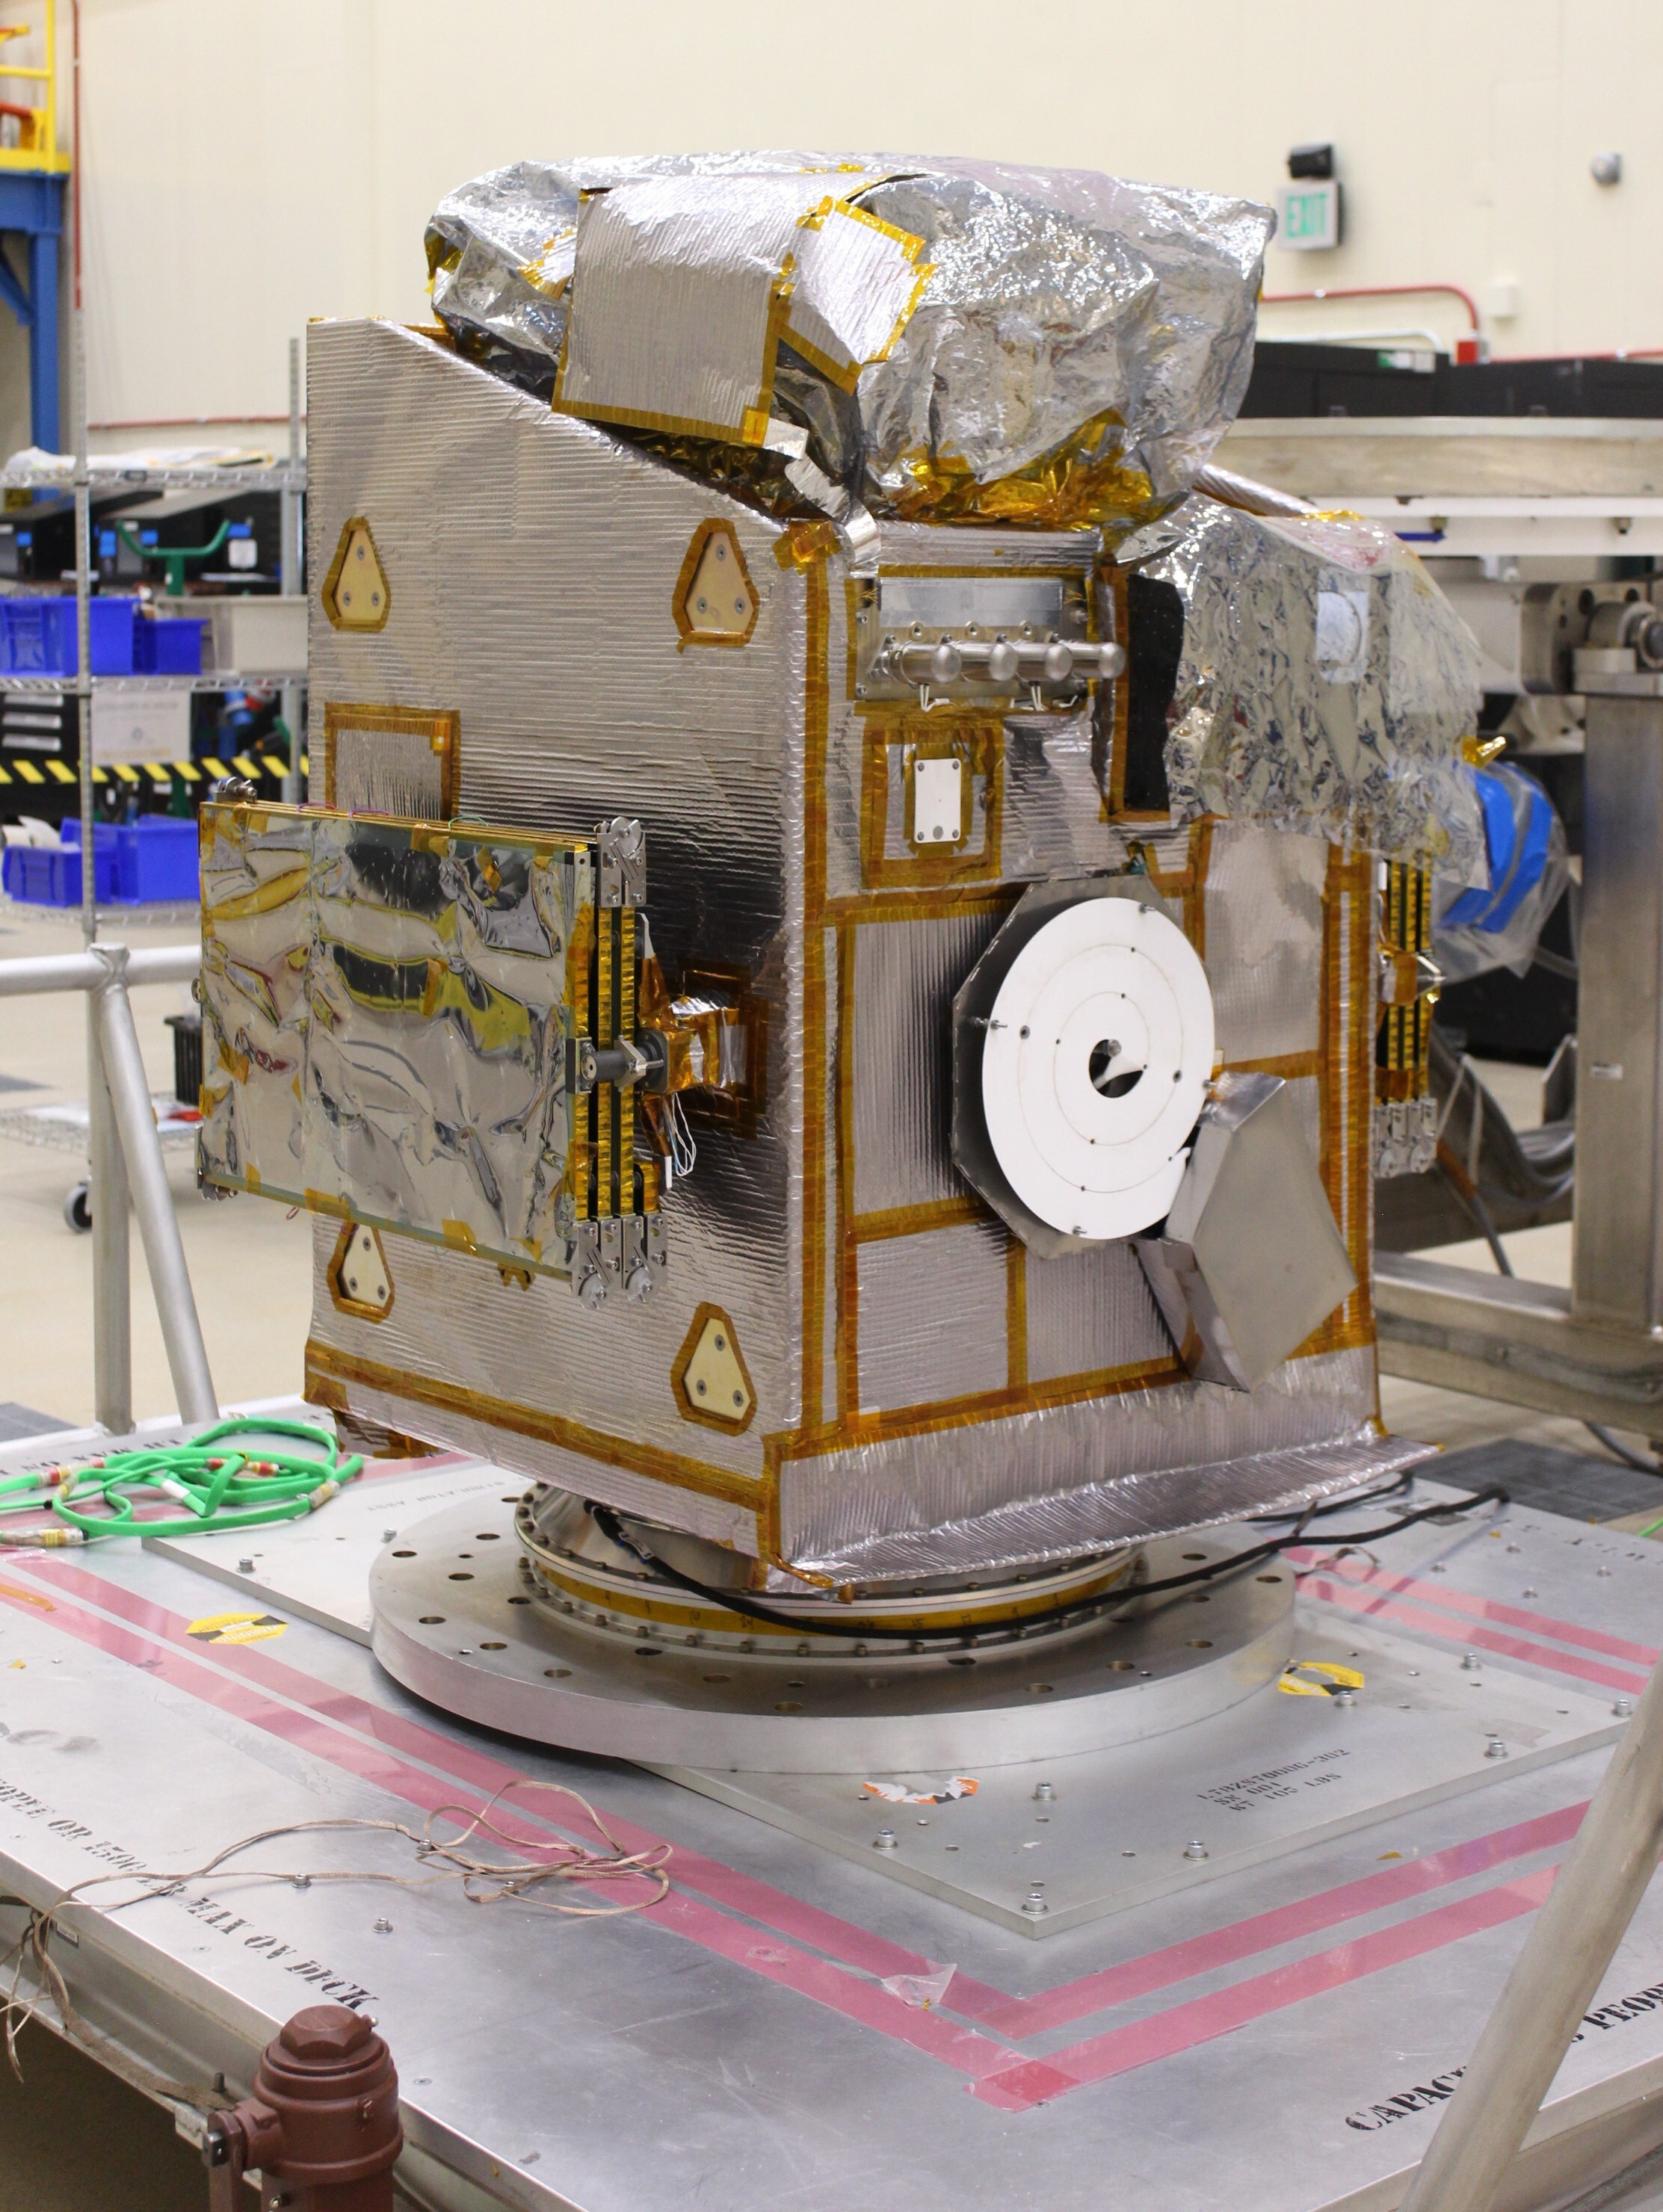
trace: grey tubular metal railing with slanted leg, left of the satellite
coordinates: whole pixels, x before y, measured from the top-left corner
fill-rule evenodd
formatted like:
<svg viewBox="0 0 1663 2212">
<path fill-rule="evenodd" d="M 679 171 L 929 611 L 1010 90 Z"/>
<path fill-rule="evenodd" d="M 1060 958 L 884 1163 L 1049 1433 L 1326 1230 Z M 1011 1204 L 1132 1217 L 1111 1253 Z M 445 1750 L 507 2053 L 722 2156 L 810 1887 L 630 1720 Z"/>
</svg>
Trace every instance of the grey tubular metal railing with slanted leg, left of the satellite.
<svg viewBox="0 0 1663 2212">
<path fill-rule="evenodd" d="M 166 945 L 130 951 L 126 945 L 88 945 L 80 953 L 0 960 L 0 998 L 44 991 L 86 991 L 91 1006 L 88 1148 L 93 1164 L 93 1374 L 100 1422 L 126 1433 L 133 1427 L 133 1343 L 128 1327 L 128 1192 L 139 1221 L 144 1263 L 168 1352 L 168 1371 L 186 1420 L 217 1420 L 219 1400 L 208 1371 L 208 1349 L 190 1290 L 186 1248 L 172 1210 L 161 1133 L 150 1108 L 139 1033 L 133 1024 L 130 984 L 190 982 L 201 947 Z M 113 1128 L 106 1141 L 104 1117 Z"/>
</svg>

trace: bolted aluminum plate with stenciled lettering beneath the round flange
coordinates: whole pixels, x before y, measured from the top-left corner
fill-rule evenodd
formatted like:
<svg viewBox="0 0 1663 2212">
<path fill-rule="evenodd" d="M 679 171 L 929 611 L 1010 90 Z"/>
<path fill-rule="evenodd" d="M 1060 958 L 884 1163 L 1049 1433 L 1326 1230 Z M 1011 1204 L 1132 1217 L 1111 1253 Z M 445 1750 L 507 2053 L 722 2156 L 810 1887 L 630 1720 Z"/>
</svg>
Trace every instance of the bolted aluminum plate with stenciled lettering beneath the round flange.
<svg viewBox="0 0 1663 2212">
<path fill-rule="evenodd" d="M 1621 1732 L 1610 1697 L 1479 1681 L 1460 1652 L 1333 1635 L 1316 1608 L 1296 1621 L 1300 1661 L 1364 1677 L 1356 1705 L 1267 1688 L 1152 1743 L 971 1770 L 971 1796 L 922 1805 L 845 1774 L 659 1772 L 1000 1927 L 1057 1936 Z M 887 1781 L 927 1796 L 946 1776 Z"/>
</svg>

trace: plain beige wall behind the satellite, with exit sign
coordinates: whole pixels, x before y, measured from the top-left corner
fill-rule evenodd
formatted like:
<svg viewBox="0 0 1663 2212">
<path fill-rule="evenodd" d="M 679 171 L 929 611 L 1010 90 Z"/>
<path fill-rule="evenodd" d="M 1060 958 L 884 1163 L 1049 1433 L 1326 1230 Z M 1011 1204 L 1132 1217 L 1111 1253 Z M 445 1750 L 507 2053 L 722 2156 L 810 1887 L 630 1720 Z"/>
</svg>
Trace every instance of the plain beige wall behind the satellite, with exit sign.
<svg viewBox="0 0 1663 2212">
<path fill-rule="evenodd" d="M 449 184 L 659 146 L 922 146 L 1269 197 L 1289 144 L 1331 137 L 1347 243 L 1274 246 L 1267 290 L 1513 283 L 1497 352 L 1663 347 L 1656 0 L 82 0 L 82 108 L 93 420 L 281 411 L 307 316 L 425 312 Z M 1603 148 L 1614 190 L 1588 175 Z M 1464 319 L 1265 314 L 1345 321 Z M 4 422 L 20 358 L 0 343 Z"/>
</svg>

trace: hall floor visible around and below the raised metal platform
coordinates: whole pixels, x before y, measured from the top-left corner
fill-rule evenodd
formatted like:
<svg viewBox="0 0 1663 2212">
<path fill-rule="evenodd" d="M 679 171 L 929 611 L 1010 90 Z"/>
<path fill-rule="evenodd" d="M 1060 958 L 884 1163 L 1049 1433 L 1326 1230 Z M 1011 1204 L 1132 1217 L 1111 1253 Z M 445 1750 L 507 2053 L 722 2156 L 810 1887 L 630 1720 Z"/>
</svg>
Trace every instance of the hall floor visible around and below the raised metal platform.
<svg viewBox="0 0 1663 2212">
<path fill-rule="evenodd" d="M 177 945 L 188 925 L 124 920 L 111 936 L 133 945 Z M 80 949 L 75 918 L 22 916 L 0 907 L 0 960 Z M 172 1088 L 172 1035 L 164 1015 L 190 1004 L 184 987 L 133 993 L 153 1091 Z M 1486 1066 L 1484 1077 L 1515 1126 L 1539 1119 L 1530 1068 Z M 4 1002 L 0 1011 L 0 1110 L 86 1097 L 86 1009 L 80 998 Z M 93 1420 L 91 1239 L 62 1219 L 64 1192 L 84 1172 L 77 1155 L 0 1135 L 0 1402 L 20 1400 L 66 1425 Z M 301 1349 L 312 1307 L 312 1241 L 303 1217 L 259 1199 L 206 1203 L 188 1152 L 168 1166 L 190 1261 L 208 1360 L 223 1405 L 301 1387 Z M 1566 1283 L 1570 1230 L 1506 1239 L 1521 1276 Z M 1446 1259 L 1488 1267 L 1484 1243 Z M 1519 1438 L 1563 1451 L 1599 1447 L 1570 1420 L 1418 1383 L 1384 1378 L 1387 1425 L 1426 1442 L 1464 1447 Z M 137 1234 L 133 1237 L 133 1409 L 175 1407 L 161 1332 Z M 1643 1444 L 1643 1438 L 1632 1438 Z M 20 2046 L 24 2086 L 0 2066 L 0 2212 L 199 2212 L 206 2174 L 168 2119 L 91 2059 L 29 2031 Z M 1659 2199 L 1625 2199 L 1641 2212 Z"/>
</svg>

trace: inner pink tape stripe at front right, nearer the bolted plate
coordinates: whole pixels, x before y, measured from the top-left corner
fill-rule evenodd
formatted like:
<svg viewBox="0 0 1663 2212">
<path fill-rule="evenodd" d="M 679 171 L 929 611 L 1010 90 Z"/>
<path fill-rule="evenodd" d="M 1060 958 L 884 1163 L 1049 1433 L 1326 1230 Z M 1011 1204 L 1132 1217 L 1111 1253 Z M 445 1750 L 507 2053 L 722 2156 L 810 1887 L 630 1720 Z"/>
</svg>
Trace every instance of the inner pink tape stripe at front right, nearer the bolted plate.
<svg viewBox="0 0 1663 2212">
<path fill-rule="evenodd" d="M 1088 1973 L 1066 1989 L 1053 1989 L 1044 1997 L 1004 1997 L 991 2006 L 969 2006 L 960 2000 L 953 1982 L 951 2004 L 993 2028 L 995 2035 L 1026 2037 L 1046 2028 L 1066 2026 L 1088 2013 L 1106 2011 L 1110 2004 L 1126 2004 L 1132 1997 L 1148 1997 L 1157 1989 L 1188 1982 L 1190 1975 L 1212 1973 L 1232 1966 L 1236 1960 L 1276 1944 L 1298 1942 L 1322 1929 L 1340 1927 L 1345 1920 L 1360 1920 L 1364 1913 L 1384 1911 L 1406 1898 L 1424 1896 L 1429 1889 L 1444 1889 L 1448 1882 L 1464 1882 L 1475 1874 L 1488 1874 L 1510 1858 L 1526 1858 L 1530 1851 L 1550 1851 L 1581 1827 L 1583 1805 L 1566 1805 L 1563 1812 L 1548 1812 L 1517 1827 L 1499 1827 L 1491 1836 L 1475 1836 L 1457 1843 L 1448 1851 L 1433 1851 L 1426 1858 L 1409 1858 L 1382 1874 L 1364 1874 L 1356 1882 L 1325 1889 L 1320 1896 L 1300 1898 L 1296 1905 L 1278 1905 L 1267 1913 L 1236 1920 L 1234 1927 L 1214 1929 L 1207 1936 L 1190 1936 L 1165 1951 L 1148 1951 L 1123 1966 L 1106 1966 Z"/>
</svg>

